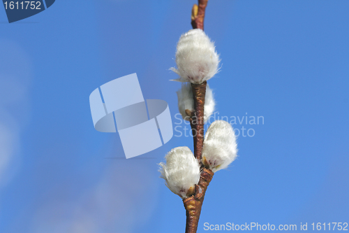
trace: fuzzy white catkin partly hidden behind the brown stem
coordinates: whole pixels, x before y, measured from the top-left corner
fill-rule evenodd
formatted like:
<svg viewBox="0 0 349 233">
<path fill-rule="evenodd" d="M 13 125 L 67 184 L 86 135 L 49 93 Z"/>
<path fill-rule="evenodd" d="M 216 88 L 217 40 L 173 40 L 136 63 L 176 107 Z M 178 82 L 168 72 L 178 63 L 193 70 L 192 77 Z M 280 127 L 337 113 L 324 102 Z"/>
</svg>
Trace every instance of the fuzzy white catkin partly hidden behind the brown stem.
<svg viewBox="0 0 349 233">
<path fill-rule="evenodd" d="M 178 97 L 178 109 L 181 113 L 181 117 L 184 120 L 189 120 L 189 116 L 186 115 L 186 109 L 194 111 L 194 99 L 193 99 L 193 90 L 191 89 L 190 83 L 184 83 L 181 85 L 181 89 L 177 91 Z M 209 117 L 214 112 L 214 106 L 216 105 L 214 101 L 214 94 L 212 93 L 209 85 L 206 85 L 206 94 L 205 94 L 205 106 L 204 106 L 204 121 L 207 122 Z"/>
</svg>

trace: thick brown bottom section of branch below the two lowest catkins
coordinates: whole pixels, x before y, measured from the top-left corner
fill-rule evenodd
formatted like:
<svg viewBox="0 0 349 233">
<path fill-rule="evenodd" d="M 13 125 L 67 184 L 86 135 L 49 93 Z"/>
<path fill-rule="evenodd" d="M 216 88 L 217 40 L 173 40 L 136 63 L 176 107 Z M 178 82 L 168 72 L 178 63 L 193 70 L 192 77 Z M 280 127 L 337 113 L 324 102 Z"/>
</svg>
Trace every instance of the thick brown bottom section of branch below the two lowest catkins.
<svg viewBox="0 0 349 233">
<path fill-rule="evenodd" d="M 186 209 L 186 233 L 195 233 L 198 230 L 198 223 L 202 202 L 204 202 L 205 192 L 214 173 L 209 169 L 202 169 L 200 181 L 195 185 L 195 195 L 183 200 Z"/>
</svg>

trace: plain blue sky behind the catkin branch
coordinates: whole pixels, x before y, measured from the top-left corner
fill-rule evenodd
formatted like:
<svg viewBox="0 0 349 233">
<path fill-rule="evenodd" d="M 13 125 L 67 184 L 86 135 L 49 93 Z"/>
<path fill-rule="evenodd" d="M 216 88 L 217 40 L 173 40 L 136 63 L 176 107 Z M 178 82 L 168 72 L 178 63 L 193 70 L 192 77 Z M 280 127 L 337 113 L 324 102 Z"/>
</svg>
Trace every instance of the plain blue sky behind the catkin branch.
<svg viewBox="0 0 349 233">
<path fill-rule="evenodd" d="M 191 137 L 126 160 L 118 134 L 94 129 L 89 94 L 137 73 L 177 126 L 168 69 L 195 2 L 56 1 L 12 24 L 0 7 L 0 232 L 184 232 L 184 206 L 157 164 L 192 149 Z M 239 159 L 214 175 L 198 232 L 349 222 L 348 12 L 345 0 L 209 1 L 216 119 L 264 124 L 233 125 L 255 134 L 240 134 Z"/>
</svg>

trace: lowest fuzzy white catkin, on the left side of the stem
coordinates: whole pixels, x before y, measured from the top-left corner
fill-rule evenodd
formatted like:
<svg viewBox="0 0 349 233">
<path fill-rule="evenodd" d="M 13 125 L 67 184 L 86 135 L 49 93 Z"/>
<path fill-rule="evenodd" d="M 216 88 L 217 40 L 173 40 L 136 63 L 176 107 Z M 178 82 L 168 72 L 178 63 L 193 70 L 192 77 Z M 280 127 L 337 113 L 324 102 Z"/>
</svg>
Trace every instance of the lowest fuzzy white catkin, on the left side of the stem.
<svg viewBox="0 0 349 233">
<path fill-rule="evenodd" d="M 186 146 L 173 148 L 166 156 L 166 164 L 161 162 L 161 178 L 166 186 L 182 198 L 186 198 L 188 190 L 195 188 L 200 179 L 200 166 L 191 149 Z"/>
</svg>

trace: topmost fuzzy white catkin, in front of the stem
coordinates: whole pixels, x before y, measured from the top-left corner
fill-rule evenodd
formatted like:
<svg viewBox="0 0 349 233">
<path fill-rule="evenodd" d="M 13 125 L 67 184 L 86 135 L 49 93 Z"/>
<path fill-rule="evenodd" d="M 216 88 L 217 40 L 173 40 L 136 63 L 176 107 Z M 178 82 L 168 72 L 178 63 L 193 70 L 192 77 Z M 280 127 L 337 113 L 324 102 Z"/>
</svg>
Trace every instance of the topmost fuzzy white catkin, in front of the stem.
<svg viewBox="0 0 349 233">
<path fill-rule="evenodd" d="M 203 83 L 218 72 L 219 56 L 214 43 L 202 29 L 181 35 L 177 43 L 177 69 L 171 68 L 180 82 Z"/>
</svg>

